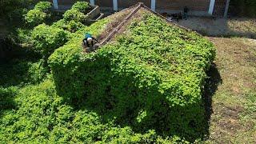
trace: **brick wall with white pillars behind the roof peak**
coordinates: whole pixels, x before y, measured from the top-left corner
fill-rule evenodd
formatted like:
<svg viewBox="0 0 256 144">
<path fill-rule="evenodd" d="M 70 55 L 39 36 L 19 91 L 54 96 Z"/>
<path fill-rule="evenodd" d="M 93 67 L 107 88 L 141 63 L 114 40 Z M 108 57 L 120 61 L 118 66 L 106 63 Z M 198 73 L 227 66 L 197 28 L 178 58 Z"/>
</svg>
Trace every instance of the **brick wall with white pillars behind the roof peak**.
<svg viewBox="0 0 256 144">
<path fill-rule="evenodd" d="M 77 0 L 53 0 L 54 8 L 62 8 L 72 5 Z M 91 5 L 98 5 L 103 10 L 122 10 L 143 2 L 159 13 L 177 13 L 188 7 L 190 15 L 198 16 L 222 16 L 225 14 L 228 0 L 84 0 Z"/>
</svg>

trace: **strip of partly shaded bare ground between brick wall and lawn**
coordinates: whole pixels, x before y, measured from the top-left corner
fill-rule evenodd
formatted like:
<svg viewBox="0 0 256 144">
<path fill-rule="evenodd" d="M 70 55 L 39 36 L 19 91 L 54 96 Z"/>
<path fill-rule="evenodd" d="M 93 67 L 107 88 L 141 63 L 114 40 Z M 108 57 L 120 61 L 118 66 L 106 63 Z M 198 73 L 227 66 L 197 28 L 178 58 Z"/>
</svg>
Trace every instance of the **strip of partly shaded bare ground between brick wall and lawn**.
<svg viewBox="0 0 256 144">
<path fill-rule="evenodd" d="M 207 36 L 256 38 L 256 18 L 189 17 L 174 22 Z"/>
</svg>

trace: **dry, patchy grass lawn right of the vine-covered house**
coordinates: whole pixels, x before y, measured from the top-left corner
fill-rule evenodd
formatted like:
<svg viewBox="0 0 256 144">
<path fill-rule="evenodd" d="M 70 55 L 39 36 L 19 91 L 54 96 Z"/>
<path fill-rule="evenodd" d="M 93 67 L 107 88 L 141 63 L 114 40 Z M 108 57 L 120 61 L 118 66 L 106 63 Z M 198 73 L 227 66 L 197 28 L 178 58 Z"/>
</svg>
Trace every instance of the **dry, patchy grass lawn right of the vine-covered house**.
<svg viewBox="0 0 256 144">
<path fill-rule="evenodd" d="M 256 40 L 210 38 L 217 47 L 207 143 L 256 143 Z"/>
</svg>

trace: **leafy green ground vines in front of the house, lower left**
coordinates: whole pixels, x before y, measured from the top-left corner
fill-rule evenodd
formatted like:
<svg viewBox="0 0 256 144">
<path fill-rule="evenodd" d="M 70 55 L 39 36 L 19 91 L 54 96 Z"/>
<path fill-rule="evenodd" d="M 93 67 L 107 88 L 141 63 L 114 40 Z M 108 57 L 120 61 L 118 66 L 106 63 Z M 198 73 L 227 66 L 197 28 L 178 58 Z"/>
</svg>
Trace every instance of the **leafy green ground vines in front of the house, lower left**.
<svg viewBox="0 0 256 144">
<path fill-rule="evenodd" d="M 50 78 L 51 79 L 51 78 Z M 182 138 L 162 138 L 154 130 L 134 133 L 129 127 L 102 122 L 90 110 L 75 110 L 56 94 L 47 79 L 35 86 L 0 86 L 0 139 L 2 143 L 171 143 Z"/>
</svg>

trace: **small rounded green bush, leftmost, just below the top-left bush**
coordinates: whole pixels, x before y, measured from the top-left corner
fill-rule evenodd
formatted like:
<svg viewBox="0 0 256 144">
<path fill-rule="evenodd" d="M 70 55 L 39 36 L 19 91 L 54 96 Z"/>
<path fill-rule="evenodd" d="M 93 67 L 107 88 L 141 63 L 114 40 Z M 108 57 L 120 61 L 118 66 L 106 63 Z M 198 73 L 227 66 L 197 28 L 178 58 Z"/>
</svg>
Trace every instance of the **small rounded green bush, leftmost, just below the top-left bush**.
<svg viewBox="0 0 256 144">
<path fill-rule="evenodd" d="M 30 26 L 38 26 L 42 22 L 45 22 L 47 14 L 42 12 L 41 10 L 30 10 L 25 15 L 25 20 Z"/>
</svg>

